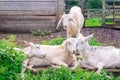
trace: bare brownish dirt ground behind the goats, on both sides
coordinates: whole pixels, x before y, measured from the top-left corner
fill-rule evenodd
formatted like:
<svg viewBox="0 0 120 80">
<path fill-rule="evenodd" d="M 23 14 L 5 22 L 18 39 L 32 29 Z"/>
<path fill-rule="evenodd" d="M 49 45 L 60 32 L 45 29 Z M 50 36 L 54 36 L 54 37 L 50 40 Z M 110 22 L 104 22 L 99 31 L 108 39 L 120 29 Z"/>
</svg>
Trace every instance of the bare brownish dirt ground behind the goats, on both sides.
<svg viewBox="0 0 120 80">
<path fill-rule="evenodd" d="M 105 28 L 83 28 L 81 33 L 84 36 L 95 33 L 95 38 L 97 41 L 103 43 L 104 45 L 120 47 L 120 29 L 105 29 Z M 0 39 L 7 38 L 8 35 L 12 33 L 0 33 Z M 49 41 L 57 36 L 66 37 L 66 32 L 64 30 L 52 33 L 50 36 L 34 36 L 31 33 L 13 33 L 16 35 L 16 43 L 25 46 L 24 41 L 40 43 L 42 40 Z"/>
</svg>

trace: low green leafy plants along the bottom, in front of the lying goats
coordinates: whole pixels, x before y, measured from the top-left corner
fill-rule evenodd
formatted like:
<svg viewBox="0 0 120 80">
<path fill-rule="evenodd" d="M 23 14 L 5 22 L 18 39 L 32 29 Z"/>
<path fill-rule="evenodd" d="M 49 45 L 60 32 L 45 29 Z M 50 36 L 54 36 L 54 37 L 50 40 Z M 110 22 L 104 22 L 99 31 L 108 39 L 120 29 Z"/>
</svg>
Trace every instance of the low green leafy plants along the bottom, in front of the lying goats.
<svg viewBox="0 0 120 80">
<path fill-rule="evenodd" d="M 108 77 L 108 73 L 102 70 L 101 74 L 94 71 L 86 71 L 78 67 L 74 72 L 69 68 L 61 67 L 60 69 L 49 68 L 36 75 L 27 71 L 25 80 L 119 80 L 120 77 Z"/>
</svg>

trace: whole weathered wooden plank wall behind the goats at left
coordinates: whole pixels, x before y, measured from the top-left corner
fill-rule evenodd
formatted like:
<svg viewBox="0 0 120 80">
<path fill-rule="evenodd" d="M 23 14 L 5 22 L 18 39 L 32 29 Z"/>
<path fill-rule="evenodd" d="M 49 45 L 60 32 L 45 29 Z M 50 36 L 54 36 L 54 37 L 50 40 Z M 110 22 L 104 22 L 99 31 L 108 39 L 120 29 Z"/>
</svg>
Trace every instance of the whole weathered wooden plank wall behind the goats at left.
<svg viewBox="0 0 120 80">
<path fill-rule="evenodd" d="M 54 31 L 64 0 L 0 0 L 0 31 Z"/>
</svg>

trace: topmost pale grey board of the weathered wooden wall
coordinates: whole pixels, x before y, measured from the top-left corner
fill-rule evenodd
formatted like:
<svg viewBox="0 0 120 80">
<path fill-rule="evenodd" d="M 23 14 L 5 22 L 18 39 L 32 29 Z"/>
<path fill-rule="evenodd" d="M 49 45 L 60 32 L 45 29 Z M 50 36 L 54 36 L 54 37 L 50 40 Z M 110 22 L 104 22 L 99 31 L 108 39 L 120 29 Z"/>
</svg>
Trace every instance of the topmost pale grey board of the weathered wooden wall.
<svg viewBox="0 0 120 80">
<path fill-rule="evenodd" d="M 0 10 L 54 10 L 55 2 L 0 2 Z"/>
</svg>

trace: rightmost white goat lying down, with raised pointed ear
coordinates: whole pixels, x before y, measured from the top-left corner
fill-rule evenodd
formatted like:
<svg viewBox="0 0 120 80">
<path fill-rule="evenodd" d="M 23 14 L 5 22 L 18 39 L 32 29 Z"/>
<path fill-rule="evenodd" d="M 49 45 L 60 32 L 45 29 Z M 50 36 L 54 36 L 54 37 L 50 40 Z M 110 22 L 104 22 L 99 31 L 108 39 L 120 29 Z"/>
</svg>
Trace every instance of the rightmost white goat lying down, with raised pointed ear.
<svg viewBox="0 0 120 80">
<path fill-rule="evenodd" d="M 82 52 L 83 59 L 73 69 L 80 64 L 86 64 L 98 68 L 99 73 L 102 68 L 120 66 L 120 49 L 114 46 L 90 46 L 88 40 L 92 37 L 93 34 L 78 39 L 76 50 Z"/>
</svg>

